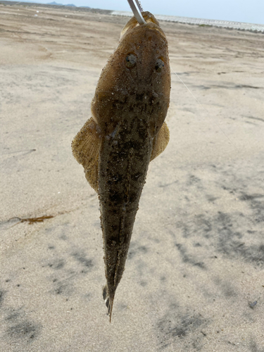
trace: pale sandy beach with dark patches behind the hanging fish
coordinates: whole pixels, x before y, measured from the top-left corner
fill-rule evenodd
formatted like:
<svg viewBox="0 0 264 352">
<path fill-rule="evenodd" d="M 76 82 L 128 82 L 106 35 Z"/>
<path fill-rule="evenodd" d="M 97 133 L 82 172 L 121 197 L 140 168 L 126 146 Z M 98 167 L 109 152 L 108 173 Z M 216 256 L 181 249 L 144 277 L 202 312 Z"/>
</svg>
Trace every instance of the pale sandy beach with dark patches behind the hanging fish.
<svg viewBox="0 0 264 352">
<path fill-rule="evenodd" d="M 161 22 L 170 143 L 109 324 L 99 200 L 70 144 L 128 19 L 0 3 L 0 350 L 263 352 L 262 33 Z"/>
</svg>

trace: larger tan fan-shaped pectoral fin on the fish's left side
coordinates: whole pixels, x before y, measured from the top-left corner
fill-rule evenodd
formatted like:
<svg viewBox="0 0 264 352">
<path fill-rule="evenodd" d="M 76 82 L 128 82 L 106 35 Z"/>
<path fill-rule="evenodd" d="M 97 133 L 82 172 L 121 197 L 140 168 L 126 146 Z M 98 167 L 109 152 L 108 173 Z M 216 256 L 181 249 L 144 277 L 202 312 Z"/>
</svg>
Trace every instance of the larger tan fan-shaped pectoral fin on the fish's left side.
<svg viewBox="0 0 264 352">
<path fill-rule="evenodd" d="M 99 127 L 93 118 L 85 122 L 72 142 L 73 156 L 84 167 L 85 177 L 98 192 L 98 158 L 101 146 Z"/>
</svg>

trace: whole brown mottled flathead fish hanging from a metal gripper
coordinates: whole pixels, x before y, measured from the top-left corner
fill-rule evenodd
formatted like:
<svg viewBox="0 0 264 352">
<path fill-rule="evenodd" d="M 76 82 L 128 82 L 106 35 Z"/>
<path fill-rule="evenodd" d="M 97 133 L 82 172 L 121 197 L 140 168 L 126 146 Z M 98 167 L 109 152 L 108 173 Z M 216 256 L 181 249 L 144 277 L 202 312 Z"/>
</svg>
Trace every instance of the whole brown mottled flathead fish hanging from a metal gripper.
<svg viewBox="0 0 264 352">
<path fill-rule="evenodd" d="M 73 156 L 99 196 L 108 315 L 125 261 L 149 163 L 166 148 L 170 104 L 168 42 L 148 11 L 131 18 L 103 68 L 92 117 L 72 142 Z"/>
</svg>

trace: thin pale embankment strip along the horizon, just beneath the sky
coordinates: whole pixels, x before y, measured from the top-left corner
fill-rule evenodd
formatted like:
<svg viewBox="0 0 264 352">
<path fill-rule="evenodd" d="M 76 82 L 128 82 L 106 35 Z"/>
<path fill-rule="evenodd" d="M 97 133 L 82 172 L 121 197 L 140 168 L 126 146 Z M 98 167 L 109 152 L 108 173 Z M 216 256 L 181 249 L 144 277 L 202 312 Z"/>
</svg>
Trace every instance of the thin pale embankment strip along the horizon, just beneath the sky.
<svg viewBox="0 0 264 352">
<path fill-rule="evenodd" d="M 51 4 L 37 4 L 34 2 L 17 2 L 17 1 L 0 1 L 0 4 L 8 6 L 35 6 L 35 7 L 46 7 L 46 8 L 63 8 L 77 12 L 90 12 L 90 13 L 101 13 L 102 15 L 114 15 L 131 17 L 132 11 L 113 11 L 103 10 L 101 8 L 87 8 L 82 6 L 66 6 L 66 5 L 51 5 Z M 198 25 L 200 27 L 218 27 L 225 28 L 228 30 L 241 30 L 246 32 L 264 33 L 264 24 L 257 23 L 242 23 L 227 20 L 209 20 L 206 18 L 189 18 L 183 16 L 171 16 L 171 15 L 156 15 L 155 17 L 159 21 L 170 22 L 170 23 L 181 23 L 184 25 Z"/>
</svg>

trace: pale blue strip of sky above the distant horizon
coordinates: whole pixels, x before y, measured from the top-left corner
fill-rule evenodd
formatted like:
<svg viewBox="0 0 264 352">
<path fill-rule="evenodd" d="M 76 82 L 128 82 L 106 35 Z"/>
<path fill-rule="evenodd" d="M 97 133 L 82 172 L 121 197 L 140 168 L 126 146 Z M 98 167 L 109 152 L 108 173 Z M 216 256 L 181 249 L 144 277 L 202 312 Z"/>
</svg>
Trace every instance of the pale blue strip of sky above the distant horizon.
<svg viewBox="0 0 264 352">
<path fill-rule="evenodd" d="M 48 4 L 75 4 L 106 10 L 130 11 L 127 0 L 30 0 Z M 210 20 L 264 24 L 264 0 L 141 0 L 144 11 Z"/>
</svg>

